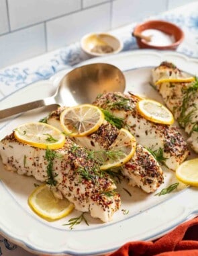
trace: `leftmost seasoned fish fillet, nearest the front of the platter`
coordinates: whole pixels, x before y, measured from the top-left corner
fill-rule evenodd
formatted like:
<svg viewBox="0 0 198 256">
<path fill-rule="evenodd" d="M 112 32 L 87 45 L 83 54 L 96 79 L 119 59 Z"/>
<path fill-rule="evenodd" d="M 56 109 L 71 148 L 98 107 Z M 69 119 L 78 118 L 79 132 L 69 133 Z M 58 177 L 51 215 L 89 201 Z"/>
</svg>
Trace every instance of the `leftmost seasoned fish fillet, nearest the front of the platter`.
<svg viewBox="0 0 198 256">
<path fill-rule="evenodd" d="M 81 212 L 90 212 L 93 218 L 108 222 L 119 209 L 120 196 L 113 180 L 89 158 L 88 150 L 70 139 L 59 150 L 43 150 L 20 143 L 11 133 L 1 140 L 0 154 L 5 169 L 53 182 L 55 195 L 65 197 Z M 51 178 L 47 154 L 53 156 Z"/>
</svg>

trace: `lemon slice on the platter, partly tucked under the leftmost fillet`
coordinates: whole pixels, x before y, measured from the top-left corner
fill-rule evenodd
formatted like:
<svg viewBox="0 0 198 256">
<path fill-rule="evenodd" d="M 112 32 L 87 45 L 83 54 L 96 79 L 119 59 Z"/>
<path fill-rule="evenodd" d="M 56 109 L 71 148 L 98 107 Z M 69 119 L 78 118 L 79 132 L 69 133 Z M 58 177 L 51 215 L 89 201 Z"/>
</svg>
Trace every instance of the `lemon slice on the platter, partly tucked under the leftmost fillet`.
<svg viewBox="0 0 198 256">
<path fill-rule="evenodd" d="M 32 210 L 46 220 L 64 218 L 74 209 L 74 204 L 67 199 L 57 199 L 46 185 L 34 189 L 28 203 Z"/>
</svg>

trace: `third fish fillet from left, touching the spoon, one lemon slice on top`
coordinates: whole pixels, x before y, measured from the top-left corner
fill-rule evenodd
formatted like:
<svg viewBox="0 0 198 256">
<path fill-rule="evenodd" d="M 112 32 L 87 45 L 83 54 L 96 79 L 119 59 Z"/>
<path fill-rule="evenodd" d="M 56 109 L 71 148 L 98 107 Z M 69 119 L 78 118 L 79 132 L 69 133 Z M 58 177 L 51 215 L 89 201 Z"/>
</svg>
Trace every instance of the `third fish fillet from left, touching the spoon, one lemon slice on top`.
<svg viewBox="0 0 198 256">
<path fill-rule="evenodd" d="M 97 97 L 93 104 L 123 119 L 124 125 L 140 145 L 160 155 L 168 168 L 176 170 L 189 154 L 187 143 L 177 127 L 160 125 L 144 119 L 136 107 L 139 100 L 140 97 L 134 94 L 109 92 Z"/>
</svg>

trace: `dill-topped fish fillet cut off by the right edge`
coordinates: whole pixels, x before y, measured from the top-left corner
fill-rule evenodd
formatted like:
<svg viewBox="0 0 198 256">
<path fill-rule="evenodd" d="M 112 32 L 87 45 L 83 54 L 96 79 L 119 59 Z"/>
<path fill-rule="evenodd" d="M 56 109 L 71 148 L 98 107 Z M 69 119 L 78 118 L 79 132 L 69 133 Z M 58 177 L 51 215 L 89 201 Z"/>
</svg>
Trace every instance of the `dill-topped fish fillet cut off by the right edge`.
<svg viewBox="0 0 198 256">
<path fill-rule="evenodd" d="M 198 153 L 198 81 L 157 83 L 160 79 L 182 77 L 187 77 L 187 74 L 182 73 L 175 65 L 168 62 L 162 62 L 152 70 L 152 84 L 162 96 L 166 106 L 172 111 L 179 125 L 189 135 L 187 142 Z"/>
</svg>

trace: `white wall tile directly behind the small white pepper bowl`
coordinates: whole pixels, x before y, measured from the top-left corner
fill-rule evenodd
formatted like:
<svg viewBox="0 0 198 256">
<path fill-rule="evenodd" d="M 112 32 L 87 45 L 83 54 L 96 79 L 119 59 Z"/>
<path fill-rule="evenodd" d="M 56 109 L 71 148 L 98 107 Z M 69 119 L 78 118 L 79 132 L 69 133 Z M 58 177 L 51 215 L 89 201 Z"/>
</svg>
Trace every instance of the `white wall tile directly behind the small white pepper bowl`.
<svg viewBox="0 0 198 256">
<path fill-rule="evenodd" d="M 46 23 L 48 51 L 79 40 L 88 32 L 110 29 L 110 3 L 97 5 Z"/>
</svg>

